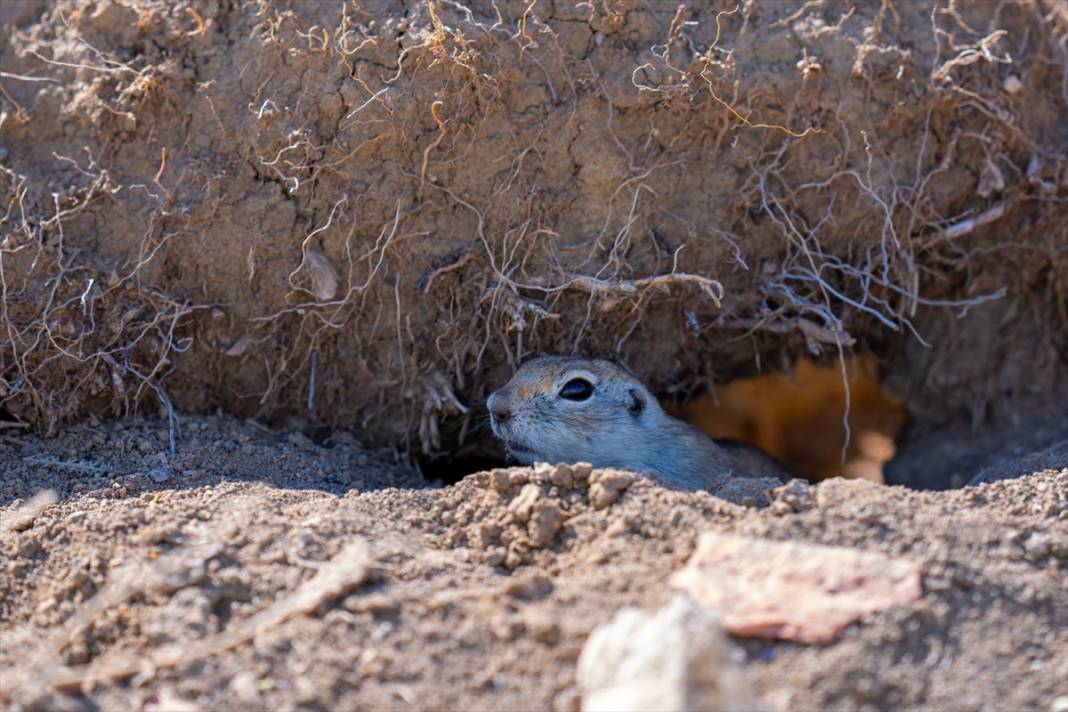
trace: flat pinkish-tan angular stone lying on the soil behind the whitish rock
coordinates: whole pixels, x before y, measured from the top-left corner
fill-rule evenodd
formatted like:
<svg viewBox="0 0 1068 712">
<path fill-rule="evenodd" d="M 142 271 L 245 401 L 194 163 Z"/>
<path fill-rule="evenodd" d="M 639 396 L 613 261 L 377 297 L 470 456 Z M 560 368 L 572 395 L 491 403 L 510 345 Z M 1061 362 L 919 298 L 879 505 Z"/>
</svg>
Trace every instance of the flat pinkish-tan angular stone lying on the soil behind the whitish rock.
<svg viewBox="0 0 1068 712">
<path fill-rule="evenodd" d="M 882 554 L 706 532 L 672 584 L 733 635 L 829 643 L 865 614 L 918 600 L 920 575 Z"/>
</svg>

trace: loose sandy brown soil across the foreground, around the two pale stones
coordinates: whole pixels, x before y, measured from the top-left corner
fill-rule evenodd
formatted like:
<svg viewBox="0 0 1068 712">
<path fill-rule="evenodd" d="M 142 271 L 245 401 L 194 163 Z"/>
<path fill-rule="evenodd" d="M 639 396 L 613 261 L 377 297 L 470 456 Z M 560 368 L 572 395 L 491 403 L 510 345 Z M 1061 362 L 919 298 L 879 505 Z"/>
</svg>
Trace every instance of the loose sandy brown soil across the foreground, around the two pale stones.
<svg viewBox="0 0 1068 712">
<path fill-rule="evenodd" d="M 665 603 L 703 531 L 923 568 L 916 603 L 830 645 L 736 638 L 771 709 L 1068 701 L 1068 469 L 756 509 L 567 468 L 437 488 L 348 437 L 180 423 L 171 464 L 166 422 L 0 440 L 6 708 L 577 709 L 591 631 Z"/>
</svg>

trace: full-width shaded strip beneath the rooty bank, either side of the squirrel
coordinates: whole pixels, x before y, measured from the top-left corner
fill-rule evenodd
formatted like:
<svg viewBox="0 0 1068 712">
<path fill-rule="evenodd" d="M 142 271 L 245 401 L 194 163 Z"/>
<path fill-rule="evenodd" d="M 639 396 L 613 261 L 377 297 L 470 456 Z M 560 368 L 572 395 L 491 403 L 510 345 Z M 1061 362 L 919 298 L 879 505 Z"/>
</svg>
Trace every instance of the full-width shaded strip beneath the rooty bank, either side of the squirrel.
<svg viewBox="0 0 1068 712">
<path fill-rule="evenodd" d="M 847 477 L 946 490 L 1068 466 L 1068 417 L 1033 413 L 1014 426 L 975 430 L 951 425 L 925 432 L 906 424 L 904 405 L 874 373 L 874 364 L 863 360 L 849 370 L 845 460 L 845 389 L 837 365 L 802 361 L 789 375 L 740 379 L 714 394 L 664 405 L 713 439 L 749 442 L 814 482 Z M 368 448 L 345 431 L 285 430 L 224 414 L 179 414 L 176 432 L 173 457 L 167 421 L 159 418 L 83 422 L 52 439 L 3 433 L 0 506 L 43 490 L 66 500 L 221 481 L 263 481 L 337 495 L 423 489 L 509 464 L 489 433 L 445 456 L 412 463 L 399 447 Z"/>
</svg>

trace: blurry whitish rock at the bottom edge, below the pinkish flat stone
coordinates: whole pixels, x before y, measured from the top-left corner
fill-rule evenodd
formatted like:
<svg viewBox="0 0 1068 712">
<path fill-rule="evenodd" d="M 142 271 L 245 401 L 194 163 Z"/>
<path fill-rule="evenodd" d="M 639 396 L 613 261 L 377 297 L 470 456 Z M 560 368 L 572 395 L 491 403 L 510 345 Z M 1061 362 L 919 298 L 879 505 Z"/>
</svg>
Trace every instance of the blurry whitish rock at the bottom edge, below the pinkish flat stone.
<svg viewBox="0 0 1068 712">
<path fill-rule="evenodd" d="M 760 709 L 716 618 L 687 596 L 624 608 L 590 635 L 577 679 L 586 712 Z"/>
</svg>

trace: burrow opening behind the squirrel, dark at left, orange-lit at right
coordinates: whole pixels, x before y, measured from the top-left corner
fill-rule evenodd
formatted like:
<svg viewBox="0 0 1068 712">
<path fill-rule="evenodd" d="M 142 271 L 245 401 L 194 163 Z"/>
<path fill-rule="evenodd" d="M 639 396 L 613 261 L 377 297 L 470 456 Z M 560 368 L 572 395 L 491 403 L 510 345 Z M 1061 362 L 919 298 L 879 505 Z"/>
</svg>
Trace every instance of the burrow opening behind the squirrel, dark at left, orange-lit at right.
<svg viewBox="0 0 1068 712">
<path fill-rule="evenodd" d="M 1068 418 L 1042 412 L 1011 425 L 951 424 L 928 432 L 908 422 L 905 404 L 879 381 L 874 359 L 846 364 L 846 380 L 841 363 L 802 360 L 789 374 L 738 379 L 714 393 L 662 398 L 661 405 L 713 440 L 755 445 L 813 482 L 846 477 L 947 490 L 1068 466 Z M 428 480 L 451 485 L 508 461 L 487 431 L 446 456 L 417 457 L 417 464 Z"/>
</svg>

